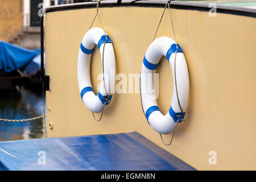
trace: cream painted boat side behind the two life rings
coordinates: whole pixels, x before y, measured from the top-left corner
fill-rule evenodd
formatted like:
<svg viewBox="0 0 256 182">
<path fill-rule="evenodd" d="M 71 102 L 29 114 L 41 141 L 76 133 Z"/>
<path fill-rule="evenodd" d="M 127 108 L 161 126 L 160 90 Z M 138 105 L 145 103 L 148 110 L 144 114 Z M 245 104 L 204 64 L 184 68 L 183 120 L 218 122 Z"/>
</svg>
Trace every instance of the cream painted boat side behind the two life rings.
<svg viewBox="0 0 256 182">
<path fill-rule="evenodd" d="M 100 16 L 113 40 L 117 73 L 139 73 L 162 8 L 104 7 Z M 46 73 L 49 137 L 127 133 L 144 137 L 196 169 L 255 170 L 256 19 L 246 16 L 172 10 L 177 42 L 187 59 L 190 93 L 186 121 L 178 127 L 171 146 L 164 146 L 146 121 L 139 93 L 115 94 L 101 122 L 82 103 L 77 84 L 77 55 L 96 9 L 57 11 L 46 15 Z M 93 27 L 100 27 L 98 19 Z M 174 38 L 166 13 L 156 37 Z M 98 49 L 93 52 L 91 76 L 95 90 L 101 72 Z M 172 100 L 168 61 L 159 67 L 158 104 L 167 113 Z M 97 115 L 98 116 L 98 115 Z M 170 140 L 171 135 L 164 137 Z M 209 151 L 217 165 L 209 165 Z"/>
</svg>

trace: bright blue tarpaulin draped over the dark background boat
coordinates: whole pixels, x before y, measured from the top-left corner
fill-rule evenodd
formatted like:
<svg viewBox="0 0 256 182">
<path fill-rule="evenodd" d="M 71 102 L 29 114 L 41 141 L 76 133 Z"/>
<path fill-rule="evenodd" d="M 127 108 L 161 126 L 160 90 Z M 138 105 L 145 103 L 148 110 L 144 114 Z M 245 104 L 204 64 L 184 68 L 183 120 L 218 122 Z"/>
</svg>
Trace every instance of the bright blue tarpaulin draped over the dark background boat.
<svg viewBox="0 0 256 182">
<path fill-rule="evenodd" d="M 40 55 L 40 49 L 29 50 L 0 40 L 0 70 L 12 72 Z"/>
</svg>

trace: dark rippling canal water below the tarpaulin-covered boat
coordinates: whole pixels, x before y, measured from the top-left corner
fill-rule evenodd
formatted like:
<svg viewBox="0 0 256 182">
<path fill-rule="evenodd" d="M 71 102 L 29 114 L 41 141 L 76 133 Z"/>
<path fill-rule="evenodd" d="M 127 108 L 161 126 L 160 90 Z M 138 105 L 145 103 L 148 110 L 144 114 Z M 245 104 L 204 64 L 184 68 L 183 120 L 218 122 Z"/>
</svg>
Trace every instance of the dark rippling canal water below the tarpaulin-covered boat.
<svg viewBox="0 0 256 182">
<path fill-rule="evenodd" d="M 27 119 L 42 114 L 42 92 L 35 92 L 23 87 L 16 90 L 0 90 L 0 118 Z M 0 121 L 0 141 L 43 137 L 43 118 L 27 122 Z"/>
</svg>

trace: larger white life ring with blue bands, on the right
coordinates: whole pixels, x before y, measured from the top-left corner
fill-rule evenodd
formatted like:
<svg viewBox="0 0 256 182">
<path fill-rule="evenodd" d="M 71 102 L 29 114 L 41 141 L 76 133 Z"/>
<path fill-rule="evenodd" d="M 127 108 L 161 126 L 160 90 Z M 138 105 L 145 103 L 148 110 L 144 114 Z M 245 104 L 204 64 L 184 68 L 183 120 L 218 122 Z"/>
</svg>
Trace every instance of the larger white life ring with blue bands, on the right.
<svg viewBox="0 0 256 182">
<path fill-rule="evenodd" d="M 176 83 L 179 101 L 183 113 L 179 107 L 176 96 L 175 76 L 174 76 L 174 59 L 176 54 Z M 172 104 L 166 115 L 163 115 L 156 102 L 155 93 L 148 93 L 147 88 L 154 88 L 152 80 L 153 74 L 158 67 L 159 60 L 166 56 L 172 69 L 174 78 L 174 92 L 172 95 Z M 147 74 L 151 77 L 147 79 Z M 143 76 L 144 75 L 144 76 Z M 155 92 L 155 91 L 154 91 Z M 176 122 L 181 122 L 185 116 L 185 110 L 188 103 L 189 78 L 188 67 L 181 48 L 174 40 L 168 37 L 160 37 L 150 44 L 143 59 L 141 69 L 141 100 L 148 124 L 160 134 L 170 134 L 174 131 Z"/>
</svg>

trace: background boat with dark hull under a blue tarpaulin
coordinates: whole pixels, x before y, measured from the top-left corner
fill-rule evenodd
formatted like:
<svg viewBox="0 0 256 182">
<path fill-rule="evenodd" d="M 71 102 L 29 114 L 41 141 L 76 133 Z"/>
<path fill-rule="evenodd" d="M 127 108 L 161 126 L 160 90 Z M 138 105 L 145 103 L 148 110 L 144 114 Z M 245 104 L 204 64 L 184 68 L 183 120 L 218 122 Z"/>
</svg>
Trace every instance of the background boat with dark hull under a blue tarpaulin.
<svg viewBox="0 0 256 182">
<path fill-rule="evenodd" d="M 40 49 L 26 49 L 0 40 L 0 90 L 23 85 L 42 90 Z"/>
</svg>

